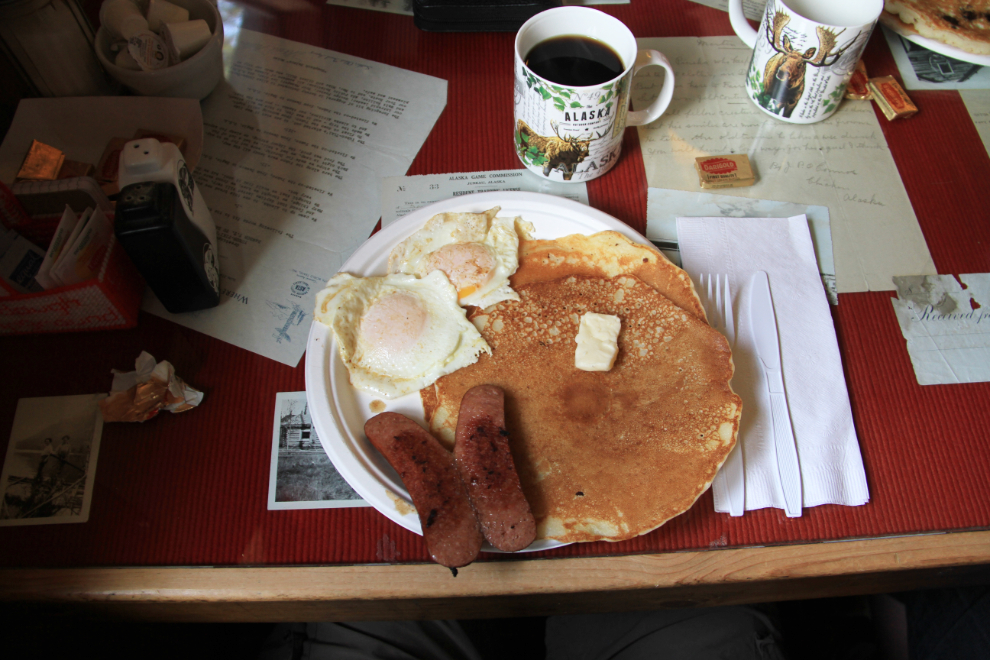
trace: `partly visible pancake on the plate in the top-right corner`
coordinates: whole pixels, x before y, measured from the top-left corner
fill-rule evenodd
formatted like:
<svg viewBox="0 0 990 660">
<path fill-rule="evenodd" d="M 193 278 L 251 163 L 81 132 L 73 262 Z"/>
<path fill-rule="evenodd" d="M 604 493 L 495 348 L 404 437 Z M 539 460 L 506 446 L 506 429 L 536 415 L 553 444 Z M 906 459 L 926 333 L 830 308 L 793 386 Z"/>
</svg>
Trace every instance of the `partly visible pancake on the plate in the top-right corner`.
<svg viewBox="0 0 990 660">
<path fill-rule="evenodd" d="M 967 53 L 990 55 L 990 0 L 886 0 L 880 22 Z"/>
</svg>

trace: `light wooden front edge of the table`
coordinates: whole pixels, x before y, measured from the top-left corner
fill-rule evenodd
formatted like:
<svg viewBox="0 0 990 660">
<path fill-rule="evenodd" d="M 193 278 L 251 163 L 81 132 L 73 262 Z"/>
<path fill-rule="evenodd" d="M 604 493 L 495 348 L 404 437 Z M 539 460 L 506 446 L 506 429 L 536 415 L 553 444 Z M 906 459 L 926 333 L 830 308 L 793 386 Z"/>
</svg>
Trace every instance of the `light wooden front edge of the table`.
<svg viewBox="0 0 990 660">
<path fill-rule="evenodd" d="M 990 531 L 620 557 L 435 564 L 6 568 L 4 610 L 171 621 L 534 616 L 990 583 Z"/>
</svg>

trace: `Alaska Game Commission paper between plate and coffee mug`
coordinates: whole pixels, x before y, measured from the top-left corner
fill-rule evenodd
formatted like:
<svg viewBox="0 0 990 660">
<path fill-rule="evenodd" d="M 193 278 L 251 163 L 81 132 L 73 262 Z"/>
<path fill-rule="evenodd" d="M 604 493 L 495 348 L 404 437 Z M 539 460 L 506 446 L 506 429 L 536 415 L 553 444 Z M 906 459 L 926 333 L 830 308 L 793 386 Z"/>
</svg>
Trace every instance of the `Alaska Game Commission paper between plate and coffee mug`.
<svg viewBox="0 0 990 660">
<path fill-rule="evenodd" d="M 522 169 L 389 177 L 382 184 L 382 227 L 411 211 L 452 197 L 516 190 L 556 195 L 588 204 L 588 184 L 548 181 Z"/>
</svg>

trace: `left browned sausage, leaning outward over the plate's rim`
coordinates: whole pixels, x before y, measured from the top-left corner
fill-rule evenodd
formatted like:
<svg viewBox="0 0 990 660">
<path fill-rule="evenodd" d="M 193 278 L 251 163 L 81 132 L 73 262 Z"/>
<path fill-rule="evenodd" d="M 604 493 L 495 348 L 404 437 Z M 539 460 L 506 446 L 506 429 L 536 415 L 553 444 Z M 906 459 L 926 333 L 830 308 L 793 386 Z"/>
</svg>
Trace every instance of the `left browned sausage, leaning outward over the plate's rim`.
<svg viewBox="0 0 990 660">
<path fill-rule="evenodd" d="M 375 415 L 364 432 L 409 491 L 433 561 L 448 568 L 474 561 L 483 537 L 453 454 L 398 413 Z"/>
</svg>

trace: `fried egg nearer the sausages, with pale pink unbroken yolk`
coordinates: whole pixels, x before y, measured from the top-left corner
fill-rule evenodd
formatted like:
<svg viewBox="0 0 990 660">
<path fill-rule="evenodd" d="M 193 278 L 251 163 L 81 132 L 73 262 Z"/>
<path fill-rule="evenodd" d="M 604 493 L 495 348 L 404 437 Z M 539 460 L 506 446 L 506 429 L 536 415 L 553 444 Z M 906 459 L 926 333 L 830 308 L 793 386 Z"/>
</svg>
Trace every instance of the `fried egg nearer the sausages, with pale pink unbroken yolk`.
<svg viewBox="0 0 990 660">
<path fill-rule="evenodd" d="M 491 353 L 442 271 L 355 277 L 338 273 L 316 296 L 351 385 L 394 399 Z"/>
</svg>

